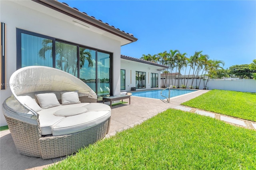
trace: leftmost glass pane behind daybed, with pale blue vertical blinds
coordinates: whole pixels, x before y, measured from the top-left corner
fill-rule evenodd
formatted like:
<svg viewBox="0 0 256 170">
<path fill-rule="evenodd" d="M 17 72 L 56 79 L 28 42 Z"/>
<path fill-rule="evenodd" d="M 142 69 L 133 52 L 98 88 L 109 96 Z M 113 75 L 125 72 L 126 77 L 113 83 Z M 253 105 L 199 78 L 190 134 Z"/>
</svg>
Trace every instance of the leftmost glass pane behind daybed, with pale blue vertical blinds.
<svg viewBox="0 0 256 170">
<path fill-rule="evenodd" d="M 52 40 L 21 34 L 21 67 L 42 65 L 52 67 Z"/>
</svg>

